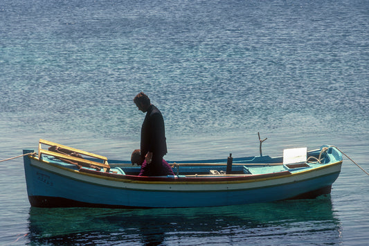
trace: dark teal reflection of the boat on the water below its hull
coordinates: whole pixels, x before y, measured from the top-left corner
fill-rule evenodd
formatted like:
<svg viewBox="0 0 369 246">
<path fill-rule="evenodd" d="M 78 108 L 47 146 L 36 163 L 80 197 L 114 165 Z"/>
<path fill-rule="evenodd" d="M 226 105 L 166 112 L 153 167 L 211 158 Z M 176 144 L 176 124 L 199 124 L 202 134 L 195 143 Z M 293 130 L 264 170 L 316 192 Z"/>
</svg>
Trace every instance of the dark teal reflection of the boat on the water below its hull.
<svg viewBox="0 0 369 246">
<path fill-rule="evenodd" d="M 31 208 L 28 227 L 30 245 L 342 242 L 330 196 L 190 209 Z"/>
</svg>

